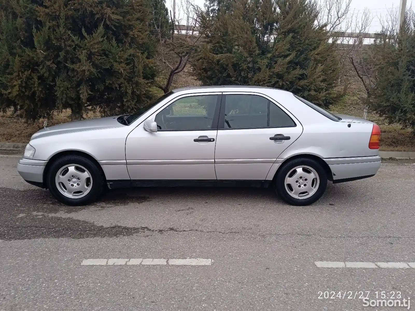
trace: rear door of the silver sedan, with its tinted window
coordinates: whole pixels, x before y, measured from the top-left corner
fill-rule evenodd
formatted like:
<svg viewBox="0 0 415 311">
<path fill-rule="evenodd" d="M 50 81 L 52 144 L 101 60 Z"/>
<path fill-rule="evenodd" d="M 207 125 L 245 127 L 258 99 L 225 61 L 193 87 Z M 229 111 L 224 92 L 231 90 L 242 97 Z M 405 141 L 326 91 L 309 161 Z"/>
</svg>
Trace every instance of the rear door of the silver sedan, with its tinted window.
<svg viewBox="0 0 415 311">
<path fill-rule="evenodd" d="M 265 180 L 271 166 L 302 133 L 286 109 L 265 95 L 224 92 L 218 123 L 218 180 Z"/>
</svg>

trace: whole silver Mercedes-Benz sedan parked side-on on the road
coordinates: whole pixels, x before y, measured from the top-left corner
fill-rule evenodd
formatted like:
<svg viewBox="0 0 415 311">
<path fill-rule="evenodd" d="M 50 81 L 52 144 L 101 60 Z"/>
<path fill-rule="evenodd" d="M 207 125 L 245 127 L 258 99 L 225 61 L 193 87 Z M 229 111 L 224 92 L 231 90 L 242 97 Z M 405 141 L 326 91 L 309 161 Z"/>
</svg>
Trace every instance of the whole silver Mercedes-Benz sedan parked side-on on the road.
<svg viewBox="0 0 415 311">
<path fill-rule="evenodd" d="M 267 87 L 184 87 L 134 114 L 70 122 L 33 134 L 17 170 L 60 202 L 83 205 L 107 189 L 272 187 L 308 205 L 327 181 L 376 174 L 379 126 L 334 115 Z"/>
</svg>

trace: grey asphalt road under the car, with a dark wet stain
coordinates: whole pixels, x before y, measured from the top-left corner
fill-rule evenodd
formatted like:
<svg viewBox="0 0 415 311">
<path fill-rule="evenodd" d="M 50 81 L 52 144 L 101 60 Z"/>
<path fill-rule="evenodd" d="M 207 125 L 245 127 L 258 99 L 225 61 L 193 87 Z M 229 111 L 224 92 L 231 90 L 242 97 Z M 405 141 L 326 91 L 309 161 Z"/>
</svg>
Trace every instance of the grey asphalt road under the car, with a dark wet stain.
<svg viewBox="0 0 415 311">
<path fill-rule="evenodd" d="M 401 292 L 415 269 L 415 165 L 329 185 L 308 207 L 270 190 L 137 188 L 86 207 L 57 203 L 0 155 L 0 310 L 406 310 L 319 292 Z M 208 258 L 209 266 L 83 266 L 87 258 Z M 366 294 L 365 294 L 366 295 Z M 359 295 L 358 295 L 359 296 Z"/>
</svg>

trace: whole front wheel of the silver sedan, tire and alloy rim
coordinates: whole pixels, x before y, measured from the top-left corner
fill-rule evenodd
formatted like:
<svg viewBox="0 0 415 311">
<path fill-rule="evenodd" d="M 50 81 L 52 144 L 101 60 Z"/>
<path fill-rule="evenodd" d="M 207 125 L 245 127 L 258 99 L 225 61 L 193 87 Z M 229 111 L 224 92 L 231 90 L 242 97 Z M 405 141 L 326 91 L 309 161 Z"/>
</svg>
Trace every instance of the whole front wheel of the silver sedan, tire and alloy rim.
<svg viewBox="0 0 415 311">
<path fill-rule="evenodd" d="M 94 202 L 104 189 L 101 170 L 81 155 L 65 155 L 54 161 L 46 179 L 51 194 L 67 205 Z"/>
</svg>

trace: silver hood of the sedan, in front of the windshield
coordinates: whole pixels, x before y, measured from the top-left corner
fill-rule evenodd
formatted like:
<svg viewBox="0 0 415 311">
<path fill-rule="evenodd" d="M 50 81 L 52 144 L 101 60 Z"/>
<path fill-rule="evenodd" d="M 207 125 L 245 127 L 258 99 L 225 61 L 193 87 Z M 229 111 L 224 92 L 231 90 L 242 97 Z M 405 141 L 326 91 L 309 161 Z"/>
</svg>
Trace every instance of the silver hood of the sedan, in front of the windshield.
<svg viewBox="0 0 415 311">
<path fill-rule="evenodd" d="M 68 123 L 62 123 L 53 125 L 50 127 L 46 127 L 34 133 L 30 138 L 40 138 L 45 136 L 52 136 L 52 135 L 59 135 L 59 134 L 66 134 L 66 133 L 74 133 L 74 132 L 81 132 L 81 131 L 90 131 L 95 129 L 109 129 L 113 127 L 123 127 L 125 125 L 121 124 L 117 121 L 117 117 L 105 117 L 105 118 L 97 118 L 97 119 L 88 119 L 82 121 L 74 121 Z"/>
</svg>

